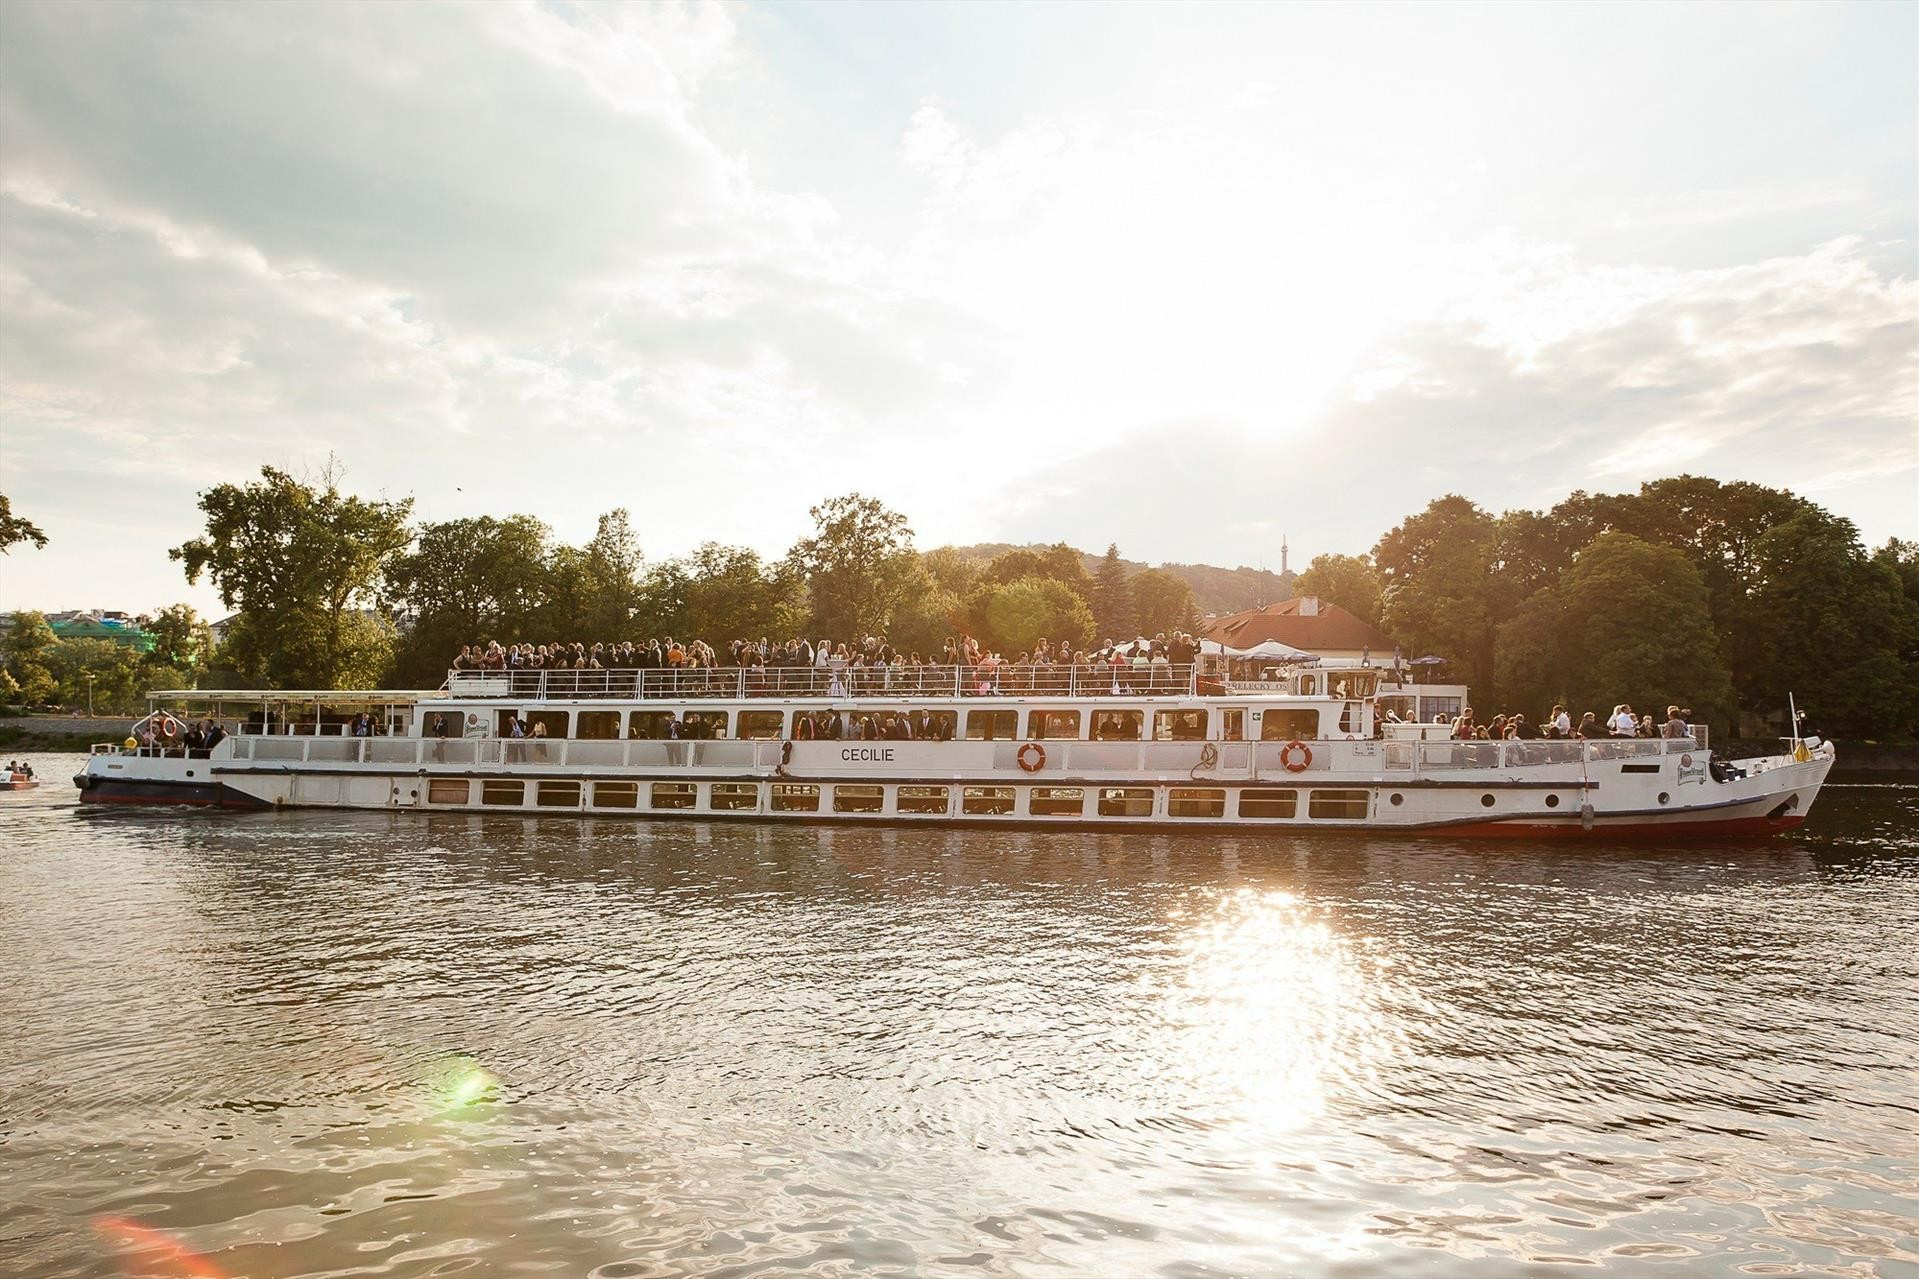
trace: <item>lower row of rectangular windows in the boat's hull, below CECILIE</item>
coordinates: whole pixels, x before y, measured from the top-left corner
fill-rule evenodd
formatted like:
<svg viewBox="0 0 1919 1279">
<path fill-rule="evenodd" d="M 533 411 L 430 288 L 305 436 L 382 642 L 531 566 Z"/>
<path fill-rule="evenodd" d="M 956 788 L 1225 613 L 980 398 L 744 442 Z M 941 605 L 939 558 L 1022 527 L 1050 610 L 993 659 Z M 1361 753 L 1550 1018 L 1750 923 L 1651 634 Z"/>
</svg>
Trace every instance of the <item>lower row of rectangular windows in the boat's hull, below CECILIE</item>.
<svg viewBox="0 0 1919 1279">
<path fill-rule="evenodd" d="M 430 805 L 470 805 L 474 787 L 480 803 L 497 808 L 524 808 L 532 799 L 537 808 L 647 808 L 679 812 L 700 808 L 699 782 L 512 782 L 487 778 L 432 778 L 426 787 Z M 708 812 L 758 810 L 758 782 L 708 782 Z M 773 782 L 766 787 L 770 812 L 885 812 L 887 787 L 871 784 L 819 785 L 812 782 Z M 963 816 L 1007 816 L 1017 810 L 1019 787 L 1013 785 L 898 785 L 894 812 L 948 814 L 958 791 Z M 1153 816 L 1153 787 L 1149 785 L 1032 785 L 1027 787 L 1029 816 L 1086 816 L 1086 793 L 1092 791 L 1094 812 L 1113 818 Z M 643 803 L 645 801 L 645 803 Z M 1366 816 L 1368 791 L 1313 789 L 1307 791 L 1307 816 L 1359 820 Z M 1238 791 L 1242 818 L 1288 820 L 1299 816 L 1299 791 L 1282 787 L 1247 787 Z M 1167 789 L 1167 816 L 1222 818 L 1226 789 L 1215 785 L 1174 785 Z"/>
</svg>

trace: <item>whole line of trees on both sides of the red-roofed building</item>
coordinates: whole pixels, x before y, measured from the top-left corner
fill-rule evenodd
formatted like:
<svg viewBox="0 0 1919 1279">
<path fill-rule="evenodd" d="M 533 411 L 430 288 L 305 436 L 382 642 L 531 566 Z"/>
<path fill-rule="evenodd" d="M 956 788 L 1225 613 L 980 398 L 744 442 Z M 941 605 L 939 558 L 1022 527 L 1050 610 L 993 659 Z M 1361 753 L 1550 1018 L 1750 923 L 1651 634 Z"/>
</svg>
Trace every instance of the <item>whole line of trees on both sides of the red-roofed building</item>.
<svg viewBox="0 0 1919 1279">
<path fill-rule="evenodd" d="M 919 551 L 902 513 L 860 494 L 814 507 L 779 559 L 708 542 L 649 563 L 626 511 L 568 545 L 532 515 L 415 522 L 411 499 L 347 494 L 340 478 L 267 467 L 201 494 L 205 532 L 171 555 L 236 615 L 219 649 L 184 605 L 155 620 L 144 657 L 54 641 L 21 615 L 0 693 L 81 705 L 86 674 L 96 705 L 163 676 L 430 688 L 486 640 L 875 634 L 933 655 L 971 634 L 1015 659 L 1042 638 L 1090 647 L 1197 626 L 1186 580 L 1128 570 L 1117 545 L 1090 572 L 1065 543 Z M 1725 726 L 1790 691 L 1823 732 L 1919 734 L 1919 543 L 1869 551 L 1850 520 L 1785 490 L 1673 476 L 1501 515 L 1445 495 L 1368 555 L 1320 555 L 1295 591 L 1382 626 L 1407 657 L 1445 659 L 1481 711 L 1679 703 Z"/>
</svg>

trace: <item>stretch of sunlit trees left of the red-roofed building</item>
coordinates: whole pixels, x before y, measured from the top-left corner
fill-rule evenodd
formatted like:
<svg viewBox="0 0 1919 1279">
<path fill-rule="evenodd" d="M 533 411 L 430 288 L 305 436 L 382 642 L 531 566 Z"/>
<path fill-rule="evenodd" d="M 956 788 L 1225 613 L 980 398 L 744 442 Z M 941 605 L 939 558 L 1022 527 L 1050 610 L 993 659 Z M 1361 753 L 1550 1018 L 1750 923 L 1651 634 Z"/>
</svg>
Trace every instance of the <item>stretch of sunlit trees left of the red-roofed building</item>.
<svg viewBox="0 0 1919 1279">
<path fill-rule="evenodd" d="M 188 582 L 207 580 L 234 615 L 215 647 L 186 605 L 190 641 L 155 641 L 144 659 L 111 641 L 59 641 L 44 616 L 15 618 L 0 697 L 84 705 L 69 668 L 113 657 L 94 689 L 102 709 L 132 709 L 142 688 L 436 688 L 468 643 L 595 643 L 649 638 L 783 641 L 881 636 L 933 657 L 956 636 L 1017 659 L 1038 640 L 1090 647 L 1192 628 L 1192 590 L 1176 576 L 1128 572 L 1109 547 L 1098 574 L 1077 549 L 1013 547 L 977 559 L 919 551 L 904 515 L 846 494 L 810 511 L 812 532 L 768 561 L 706 542 L 649 563 L 628 511 L 599 517 L 581 545 L 532 515 L 413 520 L 411 499 L 349 494 L 261 469 L 200 497 L 205 530 L 169 553 Z M 98 647 L 98 651 L 96 651 Z M 111 653 L 109 653 L 111 651 Z M 12 680 L 12 684 L 6 684 Z"/>
</svg>

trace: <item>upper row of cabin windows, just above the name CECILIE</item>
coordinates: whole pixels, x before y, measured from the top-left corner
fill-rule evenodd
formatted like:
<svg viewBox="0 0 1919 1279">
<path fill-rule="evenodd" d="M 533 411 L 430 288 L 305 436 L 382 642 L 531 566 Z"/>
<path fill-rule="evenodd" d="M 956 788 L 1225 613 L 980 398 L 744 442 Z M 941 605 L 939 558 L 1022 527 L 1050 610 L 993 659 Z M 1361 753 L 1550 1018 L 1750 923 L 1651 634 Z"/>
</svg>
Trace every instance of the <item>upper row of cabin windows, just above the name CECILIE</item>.
<svg viewBox="0 0 1919 1279">
<path fill-rule="evenodd" d="M 804 711 L 796 714 L 808 714 Z M 1205 741 L 1213 724 L 1209 711 L 1153 711 L 1148 722 L 1144 711 L 967 711 L 961 722 L 958 711 L 910 711 L 906 707 L 883 707 L 875 711 L 831 711 L 812 712 L 816 720 L 823 714 L 839 714 L 846 722 L 841 726 L 841 739 L 852 739 L 854 724 L 865 730 L 869 724 L 875 736 L 902 737 L 898 732 L 885 732 L 888 720 L 910 724 L 904 737 L 925 737 L 933 741 Z M 1019 732 L 1019 718 L 1027 716 L 1027 732 Z M 1253 734 L 1261 741 L 1311 741 L 1318 737 L 1318 711 L 1265 711 Z M 785 711 L 499 711 L 493 732 L 501 737 L 512 736 L 512 720 L 518 716 L 520 730 L 541 737 L 576 737 L 580 741 L 618 741 L 622 736 L 637 741 L 660 741 L 666 737 L 739 737 L 746 741 L 781 741 L 794 736 Z M 1232 707 L 1219 712 L 1220 739 L 1245 741 L 1247 711 Z M 1148 736 L 1151 730 L 1151 736 Z M 1341 718 L 1341 732 L 1353 726 Z"/>
</svg>

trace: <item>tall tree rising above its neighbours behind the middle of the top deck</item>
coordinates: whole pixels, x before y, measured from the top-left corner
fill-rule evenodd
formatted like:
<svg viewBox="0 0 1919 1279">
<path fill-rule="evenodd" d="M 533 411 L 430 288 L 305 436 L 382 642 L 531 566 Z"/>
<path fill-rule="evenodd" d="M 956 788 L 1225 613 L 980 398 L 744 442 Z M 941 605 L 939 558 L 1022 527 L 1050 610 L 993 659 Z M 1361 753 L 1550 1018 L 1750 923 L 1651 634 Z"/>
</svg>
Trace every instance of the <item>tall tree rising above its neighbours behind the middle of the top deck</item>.
<svg viewBox="0 0 1919 1279">
<path fill-rule="evenodd" d="M 885 636 L 917 578 L 913 530 L 875 497 L 846 494 L 810 511 L 814 536 L 787 561 L 806 580 L 812 630 L 835 641 Z"/>
</svg>

